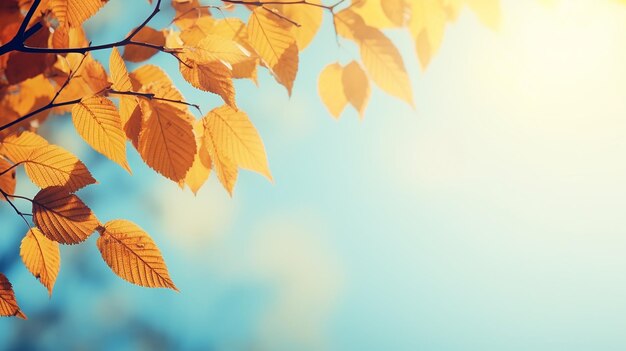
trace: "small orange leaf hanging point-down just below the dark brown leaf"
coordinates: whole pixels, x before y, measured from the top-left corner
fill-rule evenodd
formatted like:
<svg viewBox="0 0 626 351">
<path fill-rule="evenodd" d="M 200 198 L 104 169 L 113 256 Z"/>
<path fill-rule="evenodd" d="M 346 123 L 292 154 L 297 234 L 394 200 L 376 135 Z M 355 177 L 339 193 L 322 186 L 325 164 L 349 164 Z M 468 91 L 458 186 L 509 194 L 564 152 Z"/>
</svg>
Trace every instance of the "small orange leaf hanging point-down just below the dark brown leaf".
<svg viewBox="0 0 626 351">
<path fill-rule="evenodd" d="M 28 270 L 52 295 L 61 268 L 59 243 L 46 238 L 38 228 L 31 228 L 20 245 L 20 256 Z"/>
</svg>

